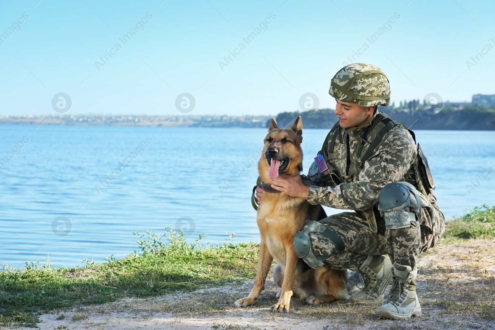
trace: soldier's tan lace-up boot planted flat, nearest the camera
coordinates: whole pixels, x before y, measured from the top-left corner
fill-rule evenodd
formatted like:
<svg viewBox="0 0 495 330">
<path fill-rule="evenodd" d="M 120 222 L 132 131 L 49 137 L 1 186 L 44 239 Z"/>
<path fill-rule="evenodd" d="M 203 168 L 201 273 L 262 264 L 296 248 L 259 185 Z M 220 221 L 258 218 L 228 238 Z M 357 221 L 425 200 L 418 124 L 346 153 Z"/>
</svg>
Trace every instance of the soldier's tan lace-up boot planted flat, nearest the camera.
<svg viewBox="0 0 495 330">
<path fill-rule="evenodd" d="M 411 267 L 394 264 L 392 289 L 387 301 L 378 307 L 376 317 L 401 320 L 412 316 L 421 316 L 421 305 L 416 295 L 416 274 Z"/>
</svg>

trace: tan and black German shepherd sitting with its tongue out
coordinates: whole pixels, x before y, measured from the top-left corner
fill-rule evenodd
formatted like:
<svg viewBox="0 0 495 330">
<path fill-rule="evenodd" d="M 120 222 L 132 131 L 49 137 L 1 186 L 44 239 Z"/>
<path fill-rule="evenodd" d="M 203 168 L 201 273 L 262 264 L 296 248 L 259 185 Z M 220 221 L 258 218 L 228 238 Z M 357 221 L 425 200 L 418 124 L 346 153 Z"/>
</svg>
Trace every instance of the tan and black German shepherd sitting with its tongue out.
<svg viewBox="0 0 495 330">
<path fill-rule="evenodd" d="M 280 129 L 275 116 L 272 118 L 258 162 L 258 172 L 264 184 L 269 186 L 271 179 L 280 173 L 295 176 L 302 171 L 301 142 L 300 116 L 289 129 Z M 258 299 L 274 258 L 277 265 L 273 269 L 273 280 L 281 290 L 276 296 L 278 302 L 271 308 L 273 312 L 289 312 L 293 294 L 312 305 L 347 299 L 347 270 L 312 269 L 297 257 L 293 247 L 294 236 L 307 221 L 322 219 L 321 212 L 324 214 L 325 211 L 321 205 L 309 204 L 303 198 L 284 192 L 264 192 L 257 212 L 261 242 L 256 279 L 249 295 L 236 301 L 237 307 L 252 305 Z"/>
</svg>

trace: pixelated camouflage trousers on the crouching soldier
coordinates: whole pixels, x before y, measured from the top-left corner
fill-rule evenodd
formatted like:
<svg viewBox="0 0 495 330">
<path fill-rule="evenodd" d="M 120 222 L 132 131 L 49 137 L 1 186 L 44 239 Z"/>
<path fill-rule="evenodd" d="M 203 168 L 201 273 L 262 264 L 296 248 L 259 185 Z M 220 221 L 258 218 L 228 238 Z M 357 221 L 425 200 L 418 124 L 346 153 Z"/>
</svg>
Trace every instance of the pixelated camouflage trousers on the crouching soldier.
<svg viewBox="0 0 495 330">
<path fill-rule="evenodd" d="M 420 198 L 421 219 L 411 221 L 406 228 L 388 229 L 378 215 L 378 230 L 374 233 L 360 212 L 343 212 L 308 222 L 303 232 L 312 244 L 314 255 L 308 254 L 303 260 L 312 268 L 324 265 L 332 269 L 357 269 L 368 255 L 388 254 L 392 263 L 414 269 L 419 254 L 433 247 L 445 231 L 444 215 L 435 196 L 427 199 L 420 193 Z M 333 240 L 322 235 L 325 228 L 321 225 L 344 241 L 344 249 L 339 250 Z"/>
</svg>

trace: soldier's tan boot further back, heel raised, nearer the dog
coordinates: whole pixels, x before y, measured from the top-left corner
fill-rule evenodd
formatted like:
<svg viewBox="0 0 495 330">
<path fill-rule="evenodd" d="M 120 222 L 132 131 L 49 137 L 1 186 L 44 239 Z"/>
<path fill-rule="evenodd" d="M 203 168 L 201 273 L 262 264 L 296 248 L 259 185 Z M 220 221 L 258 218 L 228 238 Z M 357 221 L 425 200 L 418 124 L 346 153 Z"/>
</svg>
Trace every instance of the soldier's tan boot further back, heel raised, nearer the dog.
<svg viewBox="0 0 495 330">
<path fill-rule="evenodd" d="M 379 304 L 383 300 L 383 292 L 392 284 L 392 263 L 381 255 L 368 256 L 357 272 L 360 278 L 364 275 L 364 286 L 350 296 L 350 301 L 370 305 Z"/>
</svg>

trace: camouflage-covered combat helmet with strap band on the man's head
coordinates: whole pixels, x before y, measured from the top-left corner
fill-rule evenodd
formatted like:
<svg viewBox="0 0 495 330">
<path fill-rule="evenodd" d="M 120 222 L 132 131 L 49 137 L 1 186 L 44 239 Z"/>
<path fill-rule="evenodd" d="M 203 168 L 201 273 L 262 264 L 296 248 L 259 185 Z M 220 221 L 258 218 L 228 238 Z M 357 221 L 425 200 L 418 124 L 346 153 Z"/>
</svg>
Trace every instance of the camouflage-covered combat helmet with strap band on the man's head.
<svg viewBox="0 0 495 330">
<path fill-rule="evenodd" d="M 365 107 L 390 103 L 389 79 L 379 67 L 366 63 L 352 63 L 340 69 L 332 78 L 328 93 Z"/>
</svg>

